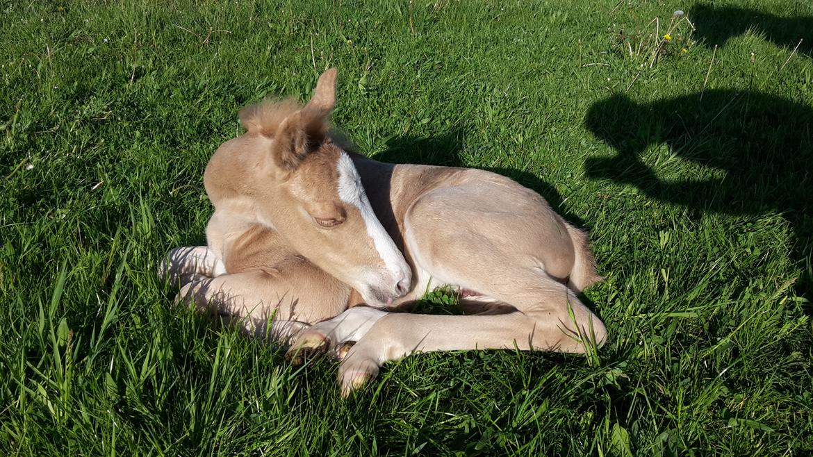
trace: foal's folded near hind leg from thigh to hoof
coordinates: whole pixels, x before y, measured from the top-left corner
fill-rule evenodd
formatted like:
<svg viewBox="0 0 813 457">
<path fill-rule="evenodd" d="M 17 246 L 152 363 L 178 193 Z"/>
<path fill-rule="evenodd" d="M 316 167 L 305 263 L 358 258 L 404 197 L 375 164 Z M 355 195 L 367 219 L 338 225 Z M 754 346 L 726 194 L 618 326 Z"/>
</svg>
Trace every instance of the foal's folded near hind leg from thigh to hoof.
<svg viewBox="0 0 813 457">
<path fill-rule="evenodd" d="M 342 363 L 343 394 L 374 376 L 381 363 L 414 351 L 517 348 L 583 353 L 603 344 L 604 324 L 559 281 L 573 260 L 569 241 L 556 238 L 568 236 L 564 227 L 549 230 L 559 223 L 554 219 L 558 216 L 550 211 L 541 212 L 548 220 L 529 217 L 524 207 L 512 208 L 506 198 L 497 198 L 502 203 L 493 211 L 468 211 L 472 205 L 477 208 L 478 202 L 472 202 L 476 194 L 432 197 L 416 203 L 407 215 L 405 239 L 417 267 L 441 283 L 476 290 L 516 311 L 496 316 L 384 316 Z M 483 207 L 489 204 L 493 202 Z M 444 220 L 472 222 L 437 224 L 439 214 Z M 533 224 L 549 226 L 537 230 Z M 544 250 L 546 245 L 550 250 Z M 548 268 L 554 269 L 554 276 Z"/>
</svg>

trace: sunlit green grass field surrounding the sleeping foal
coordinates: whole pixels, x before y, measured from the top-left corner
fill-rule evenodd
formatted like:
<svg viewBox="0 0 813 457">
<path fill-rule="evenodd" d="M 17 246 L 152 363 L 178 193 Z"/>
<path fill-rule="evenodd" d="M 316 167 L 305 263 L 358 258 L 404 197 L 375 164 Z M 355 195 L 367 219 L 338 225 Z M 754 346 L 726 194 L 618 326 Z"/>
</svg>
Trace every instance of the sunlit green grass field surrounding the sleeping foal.
<svg viewBox="0 0 813 457">
<path fill-rule="evenodd" d="M 0 2 L 0 454 L 813 453 L 813 3 L 126 3 Z M 590 230 L 598 357 L 415 355 L 343 401 L 172 306 L 237 110 L 332 66 L 364 154 Z"/>
</svg>

